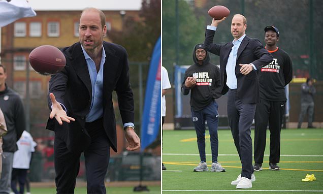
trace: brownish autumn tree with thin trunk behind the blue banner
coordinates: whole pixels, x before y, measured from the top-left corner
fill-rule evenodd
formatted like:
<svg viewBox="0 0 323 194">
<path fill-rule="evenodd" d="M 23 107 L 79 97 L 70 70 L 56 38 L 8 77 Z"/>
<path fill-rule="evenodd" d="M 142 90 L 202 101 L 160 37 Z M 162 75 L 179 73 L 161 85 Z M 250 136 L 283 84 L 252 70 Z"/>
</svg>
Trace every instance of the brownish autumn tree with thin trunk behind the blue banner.
<svg viewBox="0 0 323 194">
<path fill-rule="evenodd" d="M 139 66 L 138 63 L 149 64 L 150 57 L 156 41 L 160 36 L 160 17 L 161 17 L 160 0 L 144 0 L 139 16 L 140 20 L 133 17 L 125 17 L 123 30 L 112 30 L 109 33 L 111 40 L 122 45 L 128 53 L 130 66 L 130 79 L 135 98 L 135 122 L 136 126 L 140 126 L 140 101 L 144 94 L 140 93 L 140 84 L 143 88 L 146 86 L 148 65 L 142 66 L 142 82 L 139 83 Z M 116 96 L 113 95 L 114 100 Z M 116 101 L 115 101 L 116 102 Z M 116 109 L 116 112 L 119 112 Z M 117 123 L 122 123 L 119 113 L 116 114 Z M 138 127 L 140 128 L 140 127 Z"/>
</svg>

